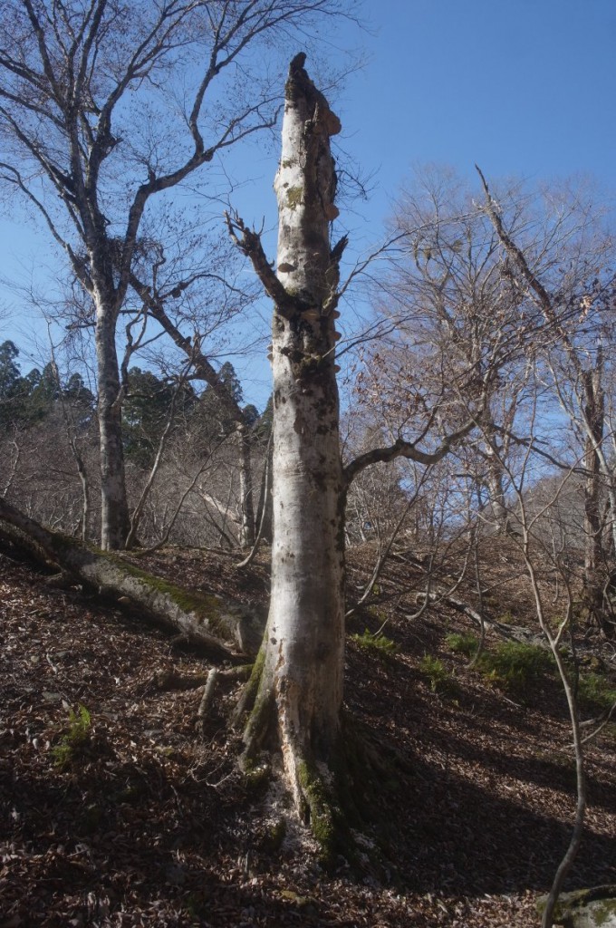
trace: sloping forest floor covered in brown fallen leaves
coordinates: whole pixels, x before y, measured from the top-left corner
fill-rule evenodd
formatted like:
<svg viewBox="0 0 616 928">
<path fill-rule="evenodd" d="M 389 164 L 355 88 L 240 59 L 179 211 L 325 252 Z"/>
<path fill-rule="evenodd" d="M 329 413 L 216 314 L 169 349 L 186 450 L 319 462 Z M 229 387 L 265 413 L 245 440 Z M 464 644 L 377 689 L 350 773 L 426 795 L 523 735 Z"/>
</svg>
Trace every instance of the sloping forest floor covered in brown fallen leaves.
<svg viewBox="0 0 616 928">
<path fill-rule="evenodd" d="M 373 557 L 350 553 L 351 601 Z M 186 586 L 267 597 L 265 556 L 241 573 L 212 552 L 146 563 Z M 490 544 L 484 606 L 533 625 L 518 567 L 506 543 Z M 201 690 L 173 686 L 207 670 L 202 658 L 0 554 L 0 928 L 538 924 L 575 807 L 562 691 L 549 674 L 505 686 L 468 668 L 448 636 L 470 620 L 443 605 L 413 617 L 420 581 L 416 561 L 391 561 L 350 621 L 345 712 L 391 774 L 366 789 L 353 867 L 340 857 L 326 872 L 299 827 L 284 833 L 284 797 L 237 773 L 225 726 L 237 688 L 198 734 Z M 470 601 L 470 588 L 456 597 Z M 386 620 L 389 649 L 361 638 Z M 613 674 L 613 648 L 584 661 Z M 616 882 L 615 726 L 587 767 L 568 888 Z"/>
</svg>

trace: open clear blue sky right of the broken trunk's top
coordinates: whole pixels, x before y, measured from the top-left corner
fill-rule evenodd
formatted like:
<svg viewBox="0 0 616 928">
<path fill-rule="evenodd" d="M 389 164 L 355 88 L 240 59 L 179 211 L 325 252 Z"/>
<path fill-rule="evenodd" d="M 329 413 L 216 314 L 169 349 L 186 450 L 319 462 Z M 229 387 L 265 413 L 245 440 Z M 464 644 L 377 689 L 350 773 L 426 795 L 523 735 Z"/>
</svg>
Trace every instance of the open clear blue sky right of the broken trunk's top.
<svg viewBox="0 0 616 928">
<path fill-rule="evenodd" d="M 614 0 L 384 0 L 343 119 L 394 193 L 417 161 L 616 180 Z M 351 87 L 349 88 L 351 91 Z"/>
</svg>

